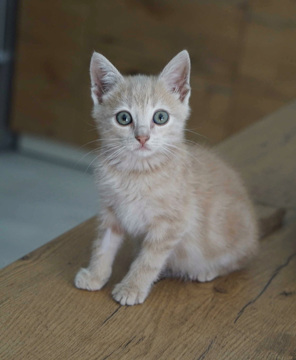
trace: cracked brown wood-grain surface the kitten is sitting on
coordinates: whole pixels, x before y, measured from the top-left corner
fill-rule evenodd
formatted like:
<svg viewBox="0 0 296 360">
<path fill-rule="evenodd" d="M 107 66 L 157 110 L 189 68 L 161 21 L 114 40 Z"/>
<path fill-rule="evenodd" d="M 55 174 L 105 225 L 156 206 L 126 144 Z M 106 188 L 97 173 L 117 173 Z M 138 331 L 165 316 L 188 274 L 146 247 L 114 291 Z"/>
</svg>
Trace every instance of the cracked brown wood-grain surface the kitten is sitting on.
<svg viewBox="0 0 296 360">
<path fill-rule="evenodd" d="M 296 359 L 296 103 L 218 150 L 257 203 L 288 208 L 246 270 L 209 283 L 166 279 L 142 305 L 110 296 L 130 261 L 121 249 L 101 291 L 75 289 L 95 219 L 0 271 L 0 358 L 67 360 Z"/>
</svg>

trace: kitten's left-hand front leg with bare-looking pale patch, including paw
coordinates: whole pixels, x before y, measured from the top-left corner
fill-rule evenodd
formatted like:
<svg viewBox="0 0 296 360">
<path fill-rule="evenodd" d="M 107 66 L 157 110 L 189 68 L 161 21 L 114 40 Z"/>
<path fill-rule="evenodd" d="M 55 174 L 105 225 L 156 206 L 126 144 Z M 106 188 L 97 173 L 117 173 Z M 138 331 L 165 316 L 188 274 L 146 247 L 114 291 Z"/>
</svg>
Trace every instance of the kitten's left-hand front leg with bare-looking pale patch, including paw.
<svg viewBox="0 0 296 360">
<path fill-rule="evenodd" d="M 119 234 L 112 228 L 100 231 L 100 233 L 102 236 L 99 235 L 94 241 L 88 267 L 81 268 L 76 274 L 74 284 L 79 289 L 100 290 L 111 276 L 112 264 L 123 234 Z"/>
</svg>

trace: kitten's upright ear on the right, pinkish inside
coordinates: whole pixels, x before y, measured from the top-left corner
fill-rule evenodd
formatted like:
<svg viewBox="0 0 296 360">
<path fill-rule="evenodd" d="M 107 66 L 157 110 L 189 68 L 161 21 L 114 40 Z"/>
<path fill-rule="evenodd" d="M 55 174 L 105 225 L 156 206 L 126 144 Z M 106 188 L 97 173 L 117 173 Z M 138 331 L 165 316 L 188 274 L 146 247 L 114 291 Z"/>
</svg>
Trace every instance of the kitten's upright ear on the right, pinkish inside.
<svg viewBox="0 0 296 360">
<path fill-rule="evenodd" d="M 160 78 L 166 83 L 169 91 L 177 93 L 181 102 L 190 96 L 190 58 L 187 50 L 178 53 L 163 69 Z"/>
</svg>

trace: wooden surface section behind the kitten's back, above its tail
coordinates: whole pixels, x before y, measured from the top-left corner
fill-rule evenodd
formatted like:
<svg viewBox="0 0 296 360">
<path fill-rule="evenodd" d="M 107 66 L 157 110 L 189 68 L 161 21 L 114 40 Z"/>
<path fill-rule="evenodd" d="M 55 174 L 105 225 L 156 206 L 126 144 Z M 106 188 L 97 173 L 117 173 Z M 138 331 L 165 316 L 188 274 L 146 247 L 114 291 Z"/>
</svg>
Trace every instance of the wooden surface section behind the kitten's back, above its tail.
<svg viewBox="0 0 296 360">
<path fill-rule="evenodd" d="M 259 203 L 296 208 L 295 118 L 293 101 L 217 145 Z"/>
</svg>

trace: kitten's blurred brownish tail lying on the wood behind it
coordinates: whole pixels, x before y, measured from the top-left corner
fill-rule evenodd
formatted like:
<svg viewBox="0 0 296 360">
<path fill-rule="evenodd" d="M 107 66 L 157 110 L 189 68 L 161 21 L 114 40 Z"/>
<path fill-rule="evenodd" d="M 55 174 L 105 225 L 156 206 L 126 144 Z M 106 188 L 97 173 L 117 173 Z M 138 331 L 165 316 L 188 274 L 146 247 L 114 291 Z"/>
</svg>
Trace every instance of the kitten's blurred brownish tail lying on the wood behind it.
<svg viewBox="0 0 296 360">
<path fill-rule="evenodd" d="M 260 239 L 265 238 L 282 227 L 284 216 L 286 214 L 285 208 L 275 208 L 256 204 L 255 210 L 257 212 L 257 219 L 259 219 Z"/>
</svg>

